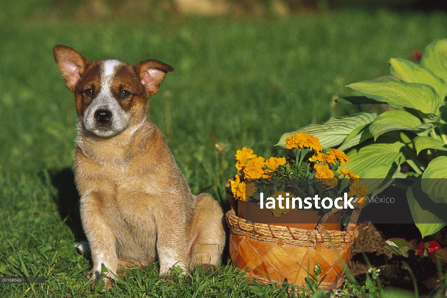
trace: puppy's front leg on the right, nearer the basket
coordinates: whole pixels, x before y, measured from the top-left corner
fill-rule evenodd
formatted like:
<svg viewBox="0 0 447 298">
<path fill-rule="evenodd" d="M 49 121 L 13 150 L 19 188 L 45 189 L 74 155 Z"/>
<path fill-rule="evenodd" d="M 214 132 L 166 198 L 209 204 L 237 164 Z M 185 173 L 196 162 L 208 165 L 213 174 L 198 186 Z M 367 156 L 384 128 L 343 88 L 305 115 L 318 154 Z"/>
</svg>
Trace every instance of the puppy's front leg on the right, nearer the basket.
<svg viewBox="0 0 447 298">
<path fill-rule="evenodd" d="M 175 202 L 175 201 L 174 201 Z M 157 253 L 160 263 L 160 276 L 169 274 L 172 266 L 180 266 L 186 273 L 186 219 L 180 204 L 174 210 L 172 205 L 160 206 L 157 219 Z"/>
</svg>

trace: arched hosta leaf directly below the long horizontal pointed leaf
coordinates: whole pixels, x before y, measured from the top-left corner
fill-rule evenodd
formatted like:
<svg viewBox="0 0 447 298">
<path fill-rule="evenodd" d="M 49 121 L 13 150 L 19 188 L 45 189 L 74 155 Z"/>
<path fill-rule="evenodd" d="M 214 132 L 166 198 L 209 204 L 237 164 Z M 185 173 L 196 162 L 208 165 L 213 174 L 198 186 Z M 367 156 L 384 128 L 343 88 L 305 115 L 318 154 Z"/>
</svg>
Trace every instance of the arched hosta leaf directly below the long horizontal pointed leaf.
<svg viewBox="0 0 447 298">
<path fill-rule="evenodd" d="M 378 136 L 392 130 L 409 130 L 416 134 L 423 133 L 438 126 L 438 123 L 430 122 L 422 124 L 418 117 L 403 111 L 390 110 L 377 116 L 373 123 L 370 124 L 370 132 L 374 140 Z"/>
</svg>

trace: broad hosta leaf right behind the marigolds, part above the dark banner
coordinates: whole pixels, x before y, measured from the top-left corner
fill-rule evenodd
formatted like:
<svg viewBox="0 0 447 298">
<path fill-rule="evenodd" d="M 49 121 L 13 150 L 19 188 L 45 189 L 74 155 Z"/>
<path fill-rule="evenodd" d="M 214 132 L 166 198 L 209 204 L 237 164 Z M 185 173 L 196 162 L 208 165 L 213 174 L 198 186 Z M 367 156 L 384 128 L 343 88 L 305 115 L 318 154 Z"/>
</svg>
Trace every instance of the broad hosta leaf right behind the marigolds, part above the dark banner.
<svg viewBox="0 0 447 298">
<path fill-rule="evenodd" d="M 405 161 L 405 156 L 402 153 L 404 146 L 404 143 L 395 138 L 381 137 L 380 143 L 349 151 L 347 154 L 349 161 L 342 168 L 359 175 L 361 178 L 367 171 L 370 171 L 368 178 L 390 177 L 390 173 L 393 172 L 392 168 Z M 380 166 L 381 170 L 373 170 L 376 166 Z"/>
</svg>

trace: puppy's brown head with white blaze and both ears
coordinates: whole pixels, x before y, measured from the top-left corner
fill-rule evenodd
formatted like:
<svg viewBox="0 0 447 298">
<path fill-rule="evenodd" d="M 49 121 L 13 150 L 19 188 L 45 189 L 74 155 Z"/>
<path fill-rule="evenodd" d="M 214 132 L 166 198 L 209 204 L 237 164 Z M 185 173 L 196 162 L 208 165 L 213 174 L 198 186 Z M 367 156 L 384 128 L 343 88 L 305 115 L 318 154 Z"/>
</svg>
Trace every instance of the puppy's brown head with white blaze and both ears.
<svg viewBox="0 0 447 298">
<path fill-rule="evenodd" d="M 141 123 L 149 110 L 148 97 L 158 91 L 174 69 L 156 60 L 136 65 L 120 60 L 90 62 L 74 49 L 53 48 L 56 64 L 74 92 L 79 124 L 101 138 L 109 138 Z"/>
</svg>

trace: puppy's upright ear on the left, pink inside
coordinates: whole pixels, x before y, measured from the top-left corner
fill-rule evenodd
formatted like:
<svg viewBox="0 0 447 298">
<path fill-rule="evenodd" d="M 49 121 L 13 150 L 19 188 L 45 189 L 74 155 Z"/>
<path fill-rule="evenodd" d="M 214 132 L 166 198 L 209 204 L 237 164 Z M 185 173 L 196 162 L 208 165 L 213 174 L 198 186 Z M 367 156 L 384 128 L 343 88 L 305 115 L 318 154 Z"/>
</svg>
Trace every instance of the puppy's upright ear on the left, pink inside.
<svg viewBox="0 0 447 298">
<path fill-rule="evenodd" d="M 90 62 L 74 49 L 61 45 L 53 47 L 53 55 L 67 88 L 74 92 L 76 82 Z"/>
</svg>

